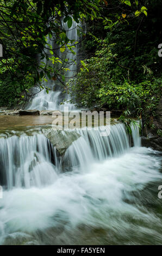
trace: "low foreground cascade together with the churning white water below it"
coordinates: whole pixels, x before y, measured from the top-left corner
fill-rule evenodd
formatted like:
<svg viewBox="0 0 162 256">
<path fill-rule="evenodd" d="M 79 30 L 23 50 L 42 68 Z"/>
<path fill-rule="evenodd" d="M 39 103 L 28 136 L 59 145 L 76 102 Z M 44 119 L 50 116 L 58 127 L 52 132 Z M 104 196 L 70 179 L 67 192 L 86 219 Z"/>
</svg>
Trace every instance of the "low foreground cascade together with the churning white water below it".
<svg viewBox="0 0 162 256">
<path fill-rule="evenodd" d="M 133 147 L 124 124 L 70 131 L 79 136 L 62 155 L 42 131 L 1 138 L 0 243 L 160 243 L 160 153 L 131 130 Z"/>
</svg>

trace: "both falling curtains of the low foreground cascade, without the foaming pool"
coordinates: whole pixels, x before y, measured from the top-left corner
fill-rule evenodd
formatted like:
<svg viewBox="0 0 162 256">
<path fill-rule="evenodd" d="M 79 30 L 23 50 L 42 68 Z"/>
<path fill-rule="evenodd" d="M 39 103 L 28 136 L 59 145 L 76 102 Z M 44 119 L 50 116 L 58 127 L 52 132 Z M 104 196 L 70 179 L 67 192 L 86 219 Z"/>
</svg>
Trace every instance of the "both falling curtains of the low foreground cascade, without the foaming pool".
<svg viewBox="0 0 162 256">
<path fill-rule="evenodd" d="M 109 126 L 106 129 L 109 129 Z M 56 149 L 42 134 L 0 139 L 1 184 L 9 189 L 49 185 L 57 179 L 57 174 L 62 169 L 85 169 L 91 162 L 117 157 L 130 148 L 124 124 L 111 126 L 109 136 L 101 136 L 101 129 L 75 131 L 81 137 L 72 143 L 61 159 L 58 158 Z M 138 131 L 138 126 L 132 126 L 134 145 L 139 146 Z"/>
</svg>

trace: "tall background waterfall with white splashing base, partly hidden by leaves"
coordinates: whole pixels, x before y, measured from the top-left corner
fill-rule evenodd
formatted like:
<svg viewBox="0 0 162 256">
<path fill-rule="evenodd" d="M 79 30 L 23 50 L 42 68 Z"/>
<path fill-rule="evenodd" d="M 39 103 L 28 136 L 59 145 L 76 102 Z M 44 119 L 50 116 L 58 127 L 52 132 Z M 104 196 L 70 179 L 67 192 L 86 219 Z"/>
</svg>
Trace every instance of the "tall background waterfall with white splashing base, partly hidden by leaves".
<svg viewBox="0 0 162 256">
<path fill-rule="evenodd" d="M 74 41 L 78 40 L 78 34 L 76 29 L 77 23 L 75 21 L 73 21 L 72 27 L 70 29 L 67 27 L 67 23 L 64 23 L 63 21 L 62 21 L 62 26 L 66 31 L 66 35 L 68 39 L 74 40 Z M 48 38 L 47 43 L 52 44 L 51 39 Z M 66 59 L 68 59 L 67 62 L 72 63 L 71 65 L 67 64 L 68 65 L 67 68 L 70 69 L 70 71 L 67 72 L 66 76 L 69 78 L 73 77 L 77 71 L 77 65 L 72 60 L 77 58 L 78 47 L 76 46 L 75 48 L 73 48 L 73 51 L 76 52 L 75 56 L 70 50 L 65 50 L 64 53 L 61 53 L 60 50 L 57 51 L 57 55 L 59 57 L 64 59 L 63 54 L 64 55 L 66 54 Z M 66 80 L 67 79 L 68 78 L 66 78 Z M 47 94 L 46 90 L 42 90 L 40 93 L 36 94 L 32 99 L 32 102 L 30 102 L 29 105 L 27 106 L 27 109 L 64 110 L 64 106 L 68 107 L 69 110 L 71 111 L 76 109 L 76 107 L 70 102 L 65 102 L 64 105 L 63 104 L 60 105 L 60 103 L 63 101 L 63 94 L 61 93 L 61 86 L 63 85 L 60 84 L 59 88 L 55 89 L 56 83 L 58 83 L 58 81 L 55 82 L 53 80 L 48 79 L 48 82 L 45 82 L 45 87 L 51 88 L 51 90 L 49 90 L 49 93 Z M 34 90 L 39 92 L 39 90 L 36 88 Z M 69 101 L 69 100 L 70 100 L 69 96 L 66 95 L 66 101 Z"/>
</svg>

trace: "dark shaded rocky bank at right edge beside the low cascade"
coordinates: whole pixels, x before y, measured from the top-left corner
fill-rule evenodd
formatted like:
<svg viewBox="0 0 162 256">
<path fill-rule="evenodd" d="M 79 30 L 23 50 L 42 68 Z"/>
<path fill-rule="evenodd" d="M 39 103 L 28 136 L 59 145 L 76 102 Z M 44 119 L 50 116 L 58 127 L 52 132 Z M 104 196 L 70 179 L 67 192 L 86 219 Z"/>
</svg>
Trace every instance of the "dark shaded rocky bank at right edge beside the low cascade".
<svg viewBox="0 0 162 256">
<path fill-rule="evenodd" d="M 141 142 L 144 147 L 151 147 L 155 150 L 162 151 L 162 137 L 157 134 L 157 130 L 162 130 L 162 97 L 157 107 L 156 114 L 156 118 L 153 119 L 155 129 L 152 130 L 143 127 Z"/>
</svg>

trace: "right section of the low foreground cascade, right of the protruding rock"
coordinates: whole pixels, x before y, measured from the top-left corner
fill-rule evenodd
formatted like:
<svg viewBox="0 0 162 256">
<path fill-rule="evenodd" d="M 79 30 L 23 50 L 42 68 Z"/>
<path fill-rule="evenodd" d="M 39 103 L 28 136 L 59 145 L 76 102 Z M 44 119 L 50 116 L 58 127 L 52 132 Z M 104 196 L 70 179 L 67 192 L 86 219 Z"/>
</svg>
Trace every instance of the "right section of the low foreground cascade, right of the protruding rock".
<svg viewBox="0 0 162 256">
<path fill-rule="evenodd" d="M 109 130 L 109 126 L 105 129 Z M 109 136 L 101 136 L 101 129 L 91 131 L 81 129 L 77 132 L 81 137 L 73 142 L 64 157 L 64 160 L 68 159 L 68 166 L 74 167 L 79 164 L 83 169 L 91 162 L 121 155 L 130 148 L 129 137 L 123 124 L 111 126 Z"/>
</svg>

